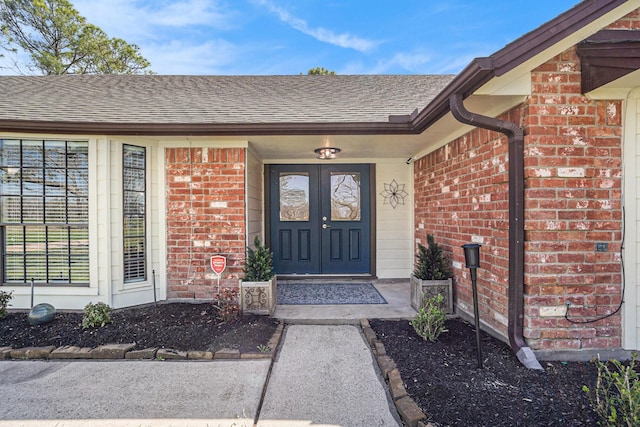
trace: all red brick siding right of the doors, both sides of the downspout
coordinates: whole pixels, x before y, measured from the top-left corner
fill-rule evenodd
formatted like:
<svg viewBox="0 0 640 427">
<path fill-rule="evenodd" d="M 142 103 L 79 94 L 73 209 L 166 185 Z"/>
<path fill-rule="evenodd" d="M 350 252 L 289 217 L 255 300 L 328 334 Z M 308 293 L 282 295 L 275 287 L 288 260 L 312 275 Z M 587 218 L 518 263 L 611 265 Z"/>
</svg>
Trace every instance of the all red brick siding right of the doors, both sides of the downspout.
<svg viewBox="0 0 640 427">
<path fill-rule="evenodd" d="M 640 10 L 609 28 L 640 29 Z M 622 104 L 580 93 L 571 48 L 532 72 L 532 95 L 500 118 L 525 129 L 525 318 L 533 349 L 621 347 Z M 474 129 L 414 163 L 415 232 L 451 257 L 457 310 L 473 313 L 460 246 L 476 242 L 480 318 L 506 336 L 508 147 Z M 596 252 L 595 243 L 608 244 Z"/>
</svg>

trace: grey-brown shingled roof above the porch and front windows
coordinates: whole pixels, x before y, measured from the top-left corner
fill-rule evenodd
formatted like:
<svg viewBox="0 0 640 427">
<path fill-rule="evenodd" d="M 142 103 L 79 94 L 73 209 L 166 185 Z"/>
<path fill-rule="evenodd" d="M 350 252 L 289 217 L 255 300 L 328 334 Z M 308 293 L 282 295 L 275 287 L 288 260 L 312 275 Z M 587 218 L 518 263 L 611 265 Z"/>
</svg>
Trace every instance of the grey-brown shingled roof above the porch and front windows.
<svg viewBox="0 0 640 427">
<path fill-rule="evenodd" d="M 17 122 L 83 128 L 388 123 L 390 115 L 424 108 L 453 77 L 0 76 L 0 129 Z"/>
</svg>

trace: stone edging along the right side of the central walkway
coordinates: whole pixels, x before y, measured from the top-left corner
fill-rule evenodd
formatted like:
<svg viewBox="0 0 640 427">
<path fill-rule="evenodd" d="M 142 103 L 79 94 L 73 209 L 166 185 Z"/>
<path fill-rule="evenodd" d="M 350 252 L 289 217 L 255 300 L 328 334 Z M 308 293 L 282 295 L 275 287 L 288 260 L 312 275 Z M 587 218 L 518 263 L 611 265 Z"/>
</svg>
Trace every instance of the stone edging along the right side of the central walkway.
<svg viewBox="0 0 640 427">
<path fill-rule="evenodd" d="M 416 402 L 407 394 L 396 363 L 387 355 L 384 344 L 378 340 L 378 336 L 371 328 L 369 321 L 367 319 L 361 319 L 360 327 L 371 347 L 375 360 L 378 362 L 380 372 L 387 381 L 391 398 L 396 405 L 396 410 L 398 414 L 400 414 L 402 422 L 409 427 L 434 427 L 435 425 L 427 421 L 425 413 L 422 412 Z"/>
</svg>

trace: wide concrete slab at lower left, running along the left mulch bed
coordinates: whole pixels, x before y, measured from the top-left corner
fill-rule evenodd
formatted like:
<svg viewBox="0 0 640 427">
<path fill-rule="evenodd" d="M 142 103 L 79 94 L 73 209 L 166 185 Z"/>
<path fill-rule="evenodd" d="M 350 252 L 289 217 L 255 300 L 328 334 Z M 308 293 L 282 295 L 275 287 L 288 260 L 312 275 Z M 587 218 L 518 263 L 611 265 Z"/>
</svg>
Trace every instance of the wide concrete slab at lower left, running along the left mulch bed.
<svg viewBox="0 0 640 427">
<path fill-rule="evenodd" d="M 269 365 L 0 362 L 0 426 L 250 427 Z"/>
</svg>

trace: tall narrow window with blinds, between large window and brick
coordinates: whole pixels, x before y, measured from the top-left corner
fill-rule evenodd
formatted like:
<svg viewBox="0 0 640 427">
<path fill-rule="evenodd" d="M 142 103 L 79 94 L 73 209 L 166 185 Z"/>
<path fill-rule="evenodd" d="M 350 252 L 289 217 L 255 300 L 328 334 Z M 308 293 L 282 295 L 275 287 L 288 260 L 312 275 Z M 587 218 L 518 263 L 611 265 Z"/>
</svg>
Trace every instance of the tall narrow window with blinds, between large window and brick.
<svg viewBox="0 0 640 427">
<path fill-rule="evenodd" d="M 124 177 L 124 281 L 147 279 L 146 250 L 146 150 L 125 145 L 122 150 Z"/>
</svg>

